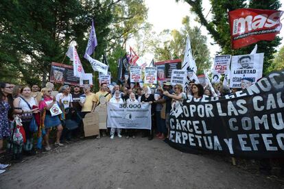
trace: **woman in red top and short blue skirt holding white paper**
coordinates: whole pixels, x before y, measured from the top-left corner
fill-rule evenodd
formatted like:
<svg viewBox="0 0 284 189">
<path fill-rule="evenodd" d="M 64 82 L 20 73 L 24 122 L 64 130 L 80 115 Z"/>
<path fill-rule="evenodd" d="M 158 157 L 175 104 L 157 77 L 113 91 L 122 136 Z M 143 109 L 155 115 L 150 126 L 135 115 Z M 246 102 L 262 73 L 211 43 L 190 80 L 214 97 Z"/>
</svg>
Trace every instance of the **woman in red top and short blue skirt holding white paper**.
<svg viewBox="0 0 284 189">
<path fill-rule="evenodd" d="M 51 116 L 51 112 L 49 111 L 50 108 L 54 105 L 54 103 L 56 103 L 56 98 L 51 97 L 51 89 L 43 88 L 41 92 L 43 94 L 43 100 L 40 101 L 39 107 L 40 107 L 41 112 L 45 111 L 44 124 L 45 124 L 45 131 L 46 131 L 46 134 L 43 140 L 45 141 L 45 150 L 49 151 L 51 149 L 49 145 L 49 132 L 50 132 L 51 127 L 57 127 L 55 144 L 59 146 L 63 145 L 60 143 L 60 136 L 62 134 L 63 127 L 61 125 L 61 121 L 59 117 Z"/>
</svg>

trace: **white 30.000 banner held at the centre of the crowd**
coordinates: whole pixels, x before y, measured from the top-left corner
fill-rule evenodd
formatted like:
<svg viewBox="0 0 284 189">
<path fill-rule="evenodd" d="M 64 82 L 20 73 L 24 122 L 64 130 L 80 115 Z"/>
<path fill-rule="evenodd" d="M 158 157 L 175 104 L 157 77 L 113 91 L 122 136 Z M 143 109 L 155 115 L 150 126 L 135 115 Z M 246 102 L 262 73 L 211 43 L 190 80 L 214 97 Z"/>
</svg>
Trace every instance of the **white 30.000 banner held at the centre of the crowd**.
<svg viewBox="0 0 284 189">
<path fill-rule="evenodd" d="M 108 127 L 123 129 L 151 129 L 149 103 L 108 102 Z"/>
</svg>

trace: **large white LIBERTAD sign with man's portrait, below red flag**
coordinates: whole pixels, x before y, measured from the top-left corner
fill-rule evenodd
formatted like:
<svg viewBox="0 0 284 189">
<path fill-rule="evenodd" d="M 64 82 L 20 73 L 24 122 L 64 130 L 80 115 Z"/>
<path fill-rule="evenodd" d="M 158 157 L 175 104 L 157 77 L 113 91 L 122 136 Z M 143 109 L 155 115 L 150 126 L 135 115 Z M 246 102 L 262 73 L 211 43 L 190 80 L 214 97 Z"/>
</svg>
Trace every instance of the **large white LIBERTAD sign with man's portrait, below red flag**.
<svg viewBox="0 0 284 189">
<path fill-rule="evenodd" d="M 262 77 L 263 53 L 234 55 L 230 65 L 230 88 L 241 88 L 241 80 L 249 78 L 250 85 Z"/>
</svg>

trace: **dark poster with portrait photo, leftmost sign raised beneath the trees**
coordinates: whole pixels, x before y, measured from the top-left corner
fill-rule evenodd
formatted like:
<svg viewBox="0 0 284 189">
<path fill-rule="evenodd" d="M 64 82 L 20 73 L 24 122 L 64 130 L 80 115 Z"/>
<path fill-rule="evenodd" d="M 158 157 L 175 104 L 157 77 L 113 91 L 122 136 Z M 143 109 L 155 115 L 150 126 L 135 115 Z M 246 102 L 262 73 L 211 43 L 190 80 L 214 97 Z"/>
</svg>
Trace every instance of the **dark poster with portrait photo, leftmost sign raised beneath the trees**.
<svg viewBox="0 0 284 189">
<path fill-rule="evenodd" d="M 50 81 L 60 84 L 78 85 L 80 78 L 74 76 L 73 66 L 51 62 Z"/>
</svg>

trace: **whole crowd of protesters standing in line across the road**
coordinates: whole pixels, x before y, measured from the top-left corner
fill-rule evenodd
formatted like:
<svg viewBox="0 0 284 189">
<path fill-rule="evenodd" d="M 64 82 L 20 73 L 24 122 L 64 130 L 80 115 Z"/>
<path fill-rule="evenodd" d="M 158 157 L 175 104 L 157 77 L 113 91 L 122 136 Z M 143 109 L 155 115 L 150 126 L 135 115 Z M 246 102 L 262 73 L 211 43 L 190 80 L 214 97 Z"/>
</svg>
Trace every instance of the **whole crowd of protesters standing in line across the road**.
<svg viewBox="0 0 284 189">
<path fill-rule="evenodd" d="M 184 99 L 188 98 L 202 98 L 204 95 L 213 97 L 213 94 L 222 97 L 230 94 L 230 92 L 237 92 L 237 88 L 228 88 L 228 86 L 215 84 L 213 88 L 209 86 L 202 86 L 190 81 L 187 86 L 187 91 L 183 91 L 183 86 L 176 84 L 171 86 L 169 81 L 165 81 L 158 86 L 143 86 L 140 88 L 137 85 L 129 85 L 130 87 L 120 86 L 115 84 L 113 88 L 108 88 L 107 84 L 101 84 L 98 92 L 92 92 L 90 86 L 61 86 L 58 91 L 55 90 L 54 84 L 47 82 L 46 86 L 40 90 L 38 85 L 29 86 L 14 86 L 13 84 L 0 84 L 0 154 L 9 150 L 13 153 L 15 160 L 21 160 L 22 155 L 36 154 L 36 138 L 40 142 L 37 147 L 43 150 L 50 151 L 51 147 L 64 146 L 65 140 L 72 138 L 84 138 L 84 126 L 82 118 L 90 112 L 94 112 L 95 108 L 101 103 L 100 99 L 104 97 L 106 101 L 111 103 L 150 103 L 152 127 L 151 129 L 120 129 L 113 128 L 108 125 L 110 129 L 100 129 L 97 139 L 102 136 L 110 134 L 110 139 L 117 136 L 121 138 L 126 136 L 126 139 L 135 138 L 141 132 L 141 137 L 147 137 L 152 140 L 154 136 L 164 140 L 169 132 L 169 114 L 171 108 L 175 103 L 182 103 Z M 213 89 L 213 90 L 212 90 Z M 54 104 L 58 104 L 62 114 L 58 116 L 51 116 L 51 108 Z M 68 115 L 71 116 L 68 118 Z M 23 125 L 25 142 L 23 144 L 14 144 L 11 142 L 12 135 L 15 128 L 14 117 L 21 118 Z M 31 131 L 30 125 L 33 116 L 37 119 L 38 131 Z M 77 123 L 78 127 L 69 129 L 71 122 Z M 70 125 L 69 125 L 70 124 Z M 51 130 L 54 132 L 54 145 L 51 145 Z M 40 136 L 43 140 L 39 140 Z M 8 143 L 6 150 L 4 148 L 4 140 Z M 7 165 L 0 164 L 0 169 Z M 0 171 L 1 173 L 1 171 Z"/>
</svg>

